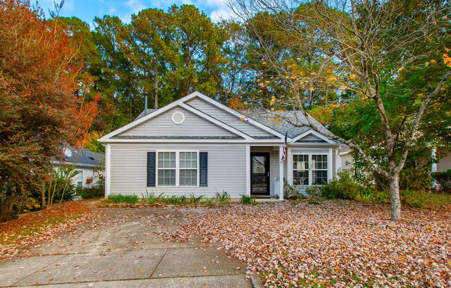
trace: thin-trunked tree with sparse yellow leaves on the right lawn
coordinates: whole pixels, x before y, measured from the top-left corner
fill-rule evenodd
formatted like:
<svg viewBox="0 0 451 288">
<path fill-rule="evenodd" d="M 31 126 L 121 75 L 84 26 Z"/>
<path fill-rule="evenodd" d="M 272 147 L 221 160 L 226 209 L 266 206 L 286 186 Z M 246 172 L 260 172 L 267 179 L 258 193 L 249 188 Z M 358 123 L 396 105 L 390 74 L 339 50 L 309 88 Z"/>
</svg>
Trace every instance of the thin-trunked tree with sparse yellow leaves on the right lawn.
<svg viewBox="0 0 451 288">
<path fill-rule="evenodd" d="M 450 6 L 421 0 L 236 0 L 234 8 L 248 22 L 259 15 L 273 24 L 252 45 L 273 77 L 290 83 L 290 89 L 277 90 L 280 107 L 306 114 L 309 94 L 322 87 L 333 87 L 339 104 L 365 107 L 371 115 L 365 125 L 375 135 L 372 143 L 310 125 L 349 145 L 369 170 L 387 179 L 391 217 L 401 219 L 399 179 L 407 154 L 418 141 L 424 116 L 439 111 L 432 105 L 449 100 Z M 261 35 L 258 27 L 249 29 Z M 280 35 L 286 41 L 276 42 Z M 305 64 L 303 73 L 295 73 L 300 67 L 291 63 L 296 61 L 314 65 Z M 380 157 L 373 156 L 375 149 Z"/>
</svg>

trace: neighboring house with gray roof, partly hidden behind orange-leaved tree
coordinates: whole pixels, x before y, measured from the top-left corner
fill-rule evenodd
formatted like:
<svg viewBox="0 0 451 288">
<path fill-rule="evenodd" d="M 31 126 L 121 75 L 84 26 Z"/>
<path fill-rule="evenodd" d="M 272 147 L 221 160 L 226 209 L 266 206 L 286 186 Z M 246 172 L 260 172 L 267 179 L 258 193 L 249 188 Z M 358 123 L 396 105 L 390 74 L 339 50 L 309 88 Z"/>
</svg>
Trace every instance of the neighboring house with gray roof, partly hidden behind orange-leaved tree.
<svg viewBox="0 0 451 288">
<path fill-rule="evenodd" d="M 98 168 L 102 159 L 104 159 L 102 153 L 91 152 L 84 148 L 75 149 L 69 146 L 64 150 L 63 161 L 54 161 L 53 167 L 57 170 L 59 165 L 74 165 L 77 174 L 71 178 L 71 183 L 75 186 L 87 188 L 97 184 L 99 180 Z"/>
</svg>

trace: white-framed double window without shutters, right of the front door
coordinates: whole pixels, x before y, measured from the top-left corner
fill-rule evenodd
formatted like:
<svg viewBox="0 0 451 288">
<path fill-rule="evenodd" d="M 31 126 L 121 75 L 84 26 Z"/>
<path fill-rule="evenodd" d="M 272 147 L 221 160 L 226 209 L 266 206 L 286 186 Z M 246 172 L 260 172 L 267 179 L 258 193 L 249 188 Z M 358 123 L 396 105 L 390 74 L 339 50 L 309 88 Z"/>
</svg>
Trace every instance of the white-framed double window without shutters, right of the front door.
<svg viewBox="0 0 451 288">
<path fill-rule="evenodd" d="M 327 154 L 293 154 L 293 185 L 324 185 L 329 179 Z"/>
</svg>

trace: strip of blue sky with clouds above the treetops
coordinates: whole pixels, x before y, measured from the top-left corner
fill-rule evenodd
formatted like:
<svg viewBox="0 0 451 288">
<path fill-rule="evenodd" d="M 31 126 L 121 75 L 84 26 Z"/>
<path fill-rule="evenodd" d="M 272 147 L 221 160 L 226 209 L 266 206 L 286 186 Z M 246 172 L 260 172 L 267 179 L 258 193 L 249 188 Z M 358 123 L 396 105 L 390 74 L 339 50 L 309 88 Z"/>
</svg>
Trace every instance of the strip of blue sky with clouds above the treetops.
<svg viewBox="0 0 451 288">
<path fill-rule="evenodd" d="M 61 16 L 75 16 L 86 23 L 91 28 L 94 17 L 103 15 L 116 15 L 122 21 L 129 23 L 132 14 L 136 14 L 146 8 L 160 8 L 167 10 L 173 4 L 194 4 L 203 11 L 210 19 L 217 21 L 221 18 L 228 18 L 232 15 L 230 8 L 226 4 L 227 0 L 66 0 Z M 32 1 L 34 2 L 34 1 Z M 53 0 L 39 0 L 39 5 L 48 15 L 48 9 L 53 10 Z"/>
</svg>

